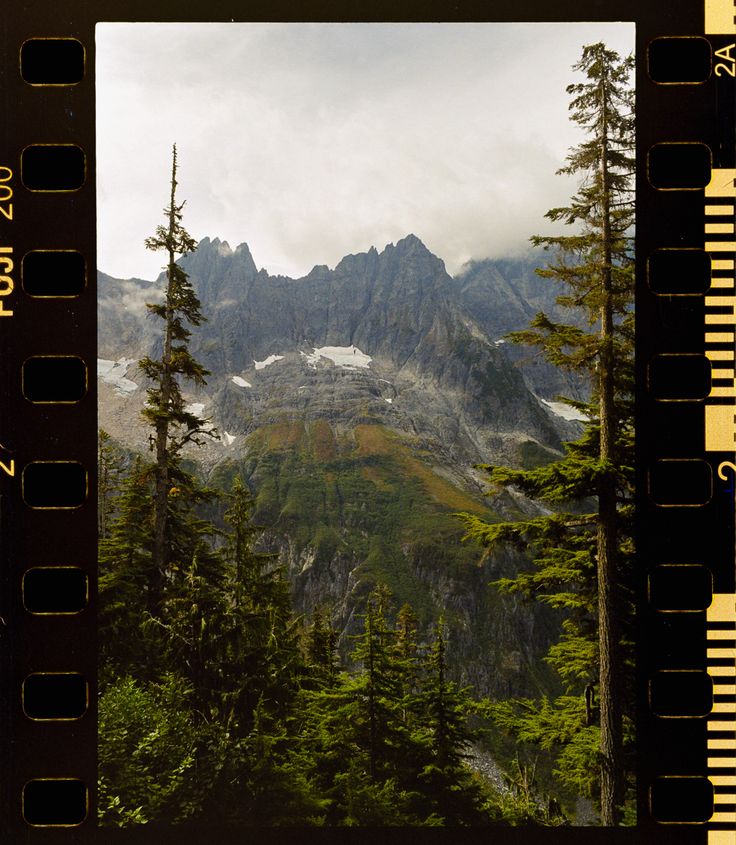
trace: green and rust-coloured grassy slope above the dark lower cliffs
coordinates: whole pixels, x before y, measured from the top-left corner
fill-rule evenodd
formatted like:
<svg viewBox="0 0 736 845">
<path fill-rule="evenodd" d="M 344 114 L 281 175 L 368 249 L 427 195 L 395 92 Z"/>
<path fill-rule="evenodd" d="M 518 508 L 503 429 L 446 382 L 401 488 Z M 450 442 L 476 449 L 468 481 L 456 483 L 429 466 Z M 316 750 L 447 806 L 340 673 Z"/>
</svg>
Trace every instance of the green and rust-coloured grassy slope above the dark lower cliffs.
<svg viewBox="0 0 736 845">
<path fill-rule="evenodd" d="M 437 562 L 453 570 L 477 563 L 479 550 L 460 544 L 452 513 L 494 514 L 438 475 L 409 438 L 381 425 L 336 435 L 324 420 L 289 420 L 258 430 L 248 446 L 241 466 L 218 468 L 217 486 L 244 472 L 256 491 L 258 523 L 288 533 L 299 550 L 315 550 L 317 562 L 352 553 L 366 589 L 385 582 L 397 605 L 410 602 L 422 621 L 436 608 L 406 552 L 435 548 Z"/>
</svg>

